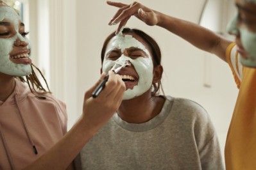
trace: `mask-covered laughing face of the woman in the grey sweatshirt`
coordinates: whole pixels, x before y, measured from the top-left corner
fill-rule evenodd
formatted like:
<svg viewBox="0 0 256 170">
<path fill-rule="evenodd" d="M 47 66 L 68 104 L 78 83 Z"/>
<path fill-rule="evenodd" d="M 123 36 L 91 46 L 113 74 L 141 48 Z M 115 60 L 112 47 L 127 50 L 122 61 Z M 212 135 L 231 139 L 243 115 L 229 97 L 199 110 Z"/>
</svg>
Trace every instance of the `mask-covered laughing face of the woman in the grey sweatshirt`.
<svg viewBox="0 0 256 170">
<path fill-rule="evenodd" d="M 103 60 L 103 72 L 108 72 L 116 62 L 128 60 L 119 74 L 126 84 L 124 100 L 138 97 L 151 88 L 153 81 L 153 61 L 148 45 L 137 35 L 116 35 L 107 45 Z"/>
</svg>

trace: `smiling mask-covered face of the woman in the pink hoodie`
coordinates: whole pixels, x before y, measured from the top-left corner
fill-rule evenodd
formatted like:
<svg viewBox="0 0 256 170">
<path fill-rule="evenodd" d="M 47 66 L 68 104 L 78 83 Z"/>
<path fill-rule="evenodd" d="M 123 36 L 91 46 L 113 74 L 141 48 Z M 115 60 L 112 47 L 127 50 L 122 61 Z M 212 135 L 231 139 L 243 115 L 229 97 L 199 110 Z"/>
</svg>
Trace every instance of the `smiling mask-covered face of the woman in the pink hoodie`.
<svg viewBox="0 0 256 170">
<path fill-rule="evenodd" d="M 29 41 L 24 24 L 10 6 L 0 6 L 0 72 L 24 76 L 31 73 Z"/>
</svg>

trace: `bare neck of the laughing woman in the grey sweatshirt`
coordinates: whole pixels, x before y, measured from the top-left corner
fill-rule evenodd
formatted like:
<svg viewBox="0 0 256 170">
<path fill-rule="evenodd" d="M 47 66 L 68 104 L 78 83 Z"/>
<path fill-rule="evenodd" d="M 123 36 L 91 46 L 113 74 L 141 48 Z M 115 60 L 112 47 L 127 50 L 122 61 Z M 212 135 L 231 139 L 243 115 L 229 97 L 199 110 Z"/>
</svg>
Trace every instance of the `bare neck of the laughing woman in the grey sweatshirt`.
<svg viewBox="0 0 256 170">
<path fill-rule="evenodd" d="M 157 116 L 163 105 L 164 98 L 152 97 L 151 91 L 146 91 L 139 97 L 123 100 L 117 112 L 128 123 L 144 123 Z"/>
</svg>

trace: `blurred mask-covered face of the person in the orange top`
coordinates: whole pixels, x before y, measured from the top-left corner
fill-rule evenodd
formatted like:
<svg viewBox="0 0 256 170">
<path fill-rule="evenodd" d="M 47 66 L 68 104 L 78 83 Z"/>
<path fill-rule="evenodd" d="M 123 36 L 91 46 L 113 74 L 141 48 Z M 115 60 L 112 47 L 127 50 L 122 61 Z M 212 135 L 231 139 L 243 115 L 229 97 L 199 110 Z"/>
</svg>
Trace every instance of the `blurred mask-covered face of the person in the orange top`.
<svg viewBox="0 0 256 170">
<path fill-rule="evenodd" d="M 236 36 L 241 63 L 256 67 L 256 0 L 237 0 L 237 15 L 228 24 L 228 32 Z"/>
</svg>

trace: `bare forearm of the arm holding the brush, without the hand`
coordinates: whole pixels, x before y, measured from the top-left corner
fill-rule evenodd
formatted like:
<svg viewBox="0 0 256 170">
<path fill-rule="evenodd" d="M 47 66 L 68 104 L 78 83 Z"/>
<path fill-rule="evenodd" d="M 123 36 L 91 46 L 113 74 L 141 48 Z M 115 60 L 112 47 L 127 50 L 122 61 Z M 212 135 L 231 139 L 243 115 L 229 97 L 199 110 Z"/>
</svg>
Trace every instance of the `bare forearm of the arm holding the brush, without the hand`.
<svg viewBox="0 0 256 170">
<path fill-rule="evenodd" d="M 96 131 L 96 129 L 87 127 L 80 118 L 62 140 L 23 170 L 66 169 Z"/>
</svg>

